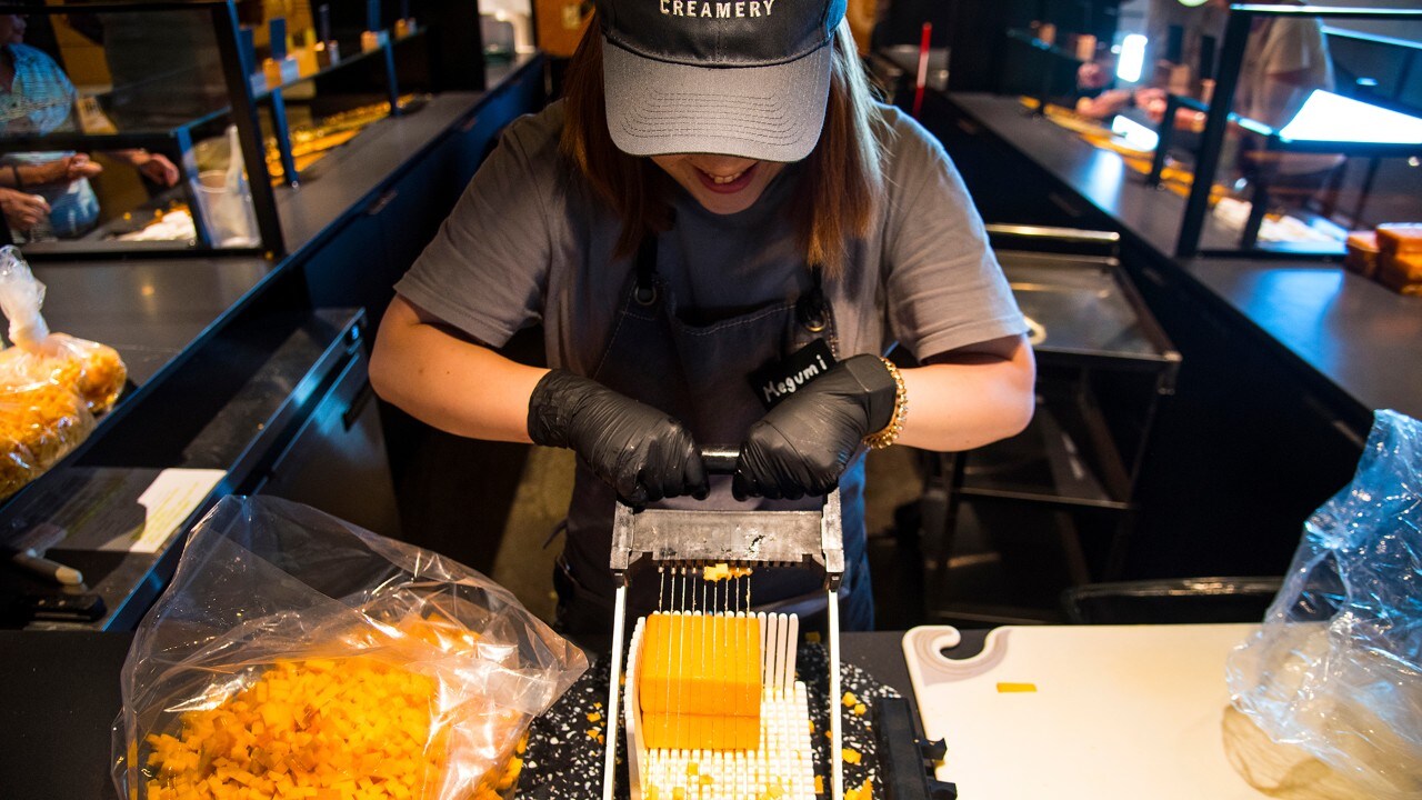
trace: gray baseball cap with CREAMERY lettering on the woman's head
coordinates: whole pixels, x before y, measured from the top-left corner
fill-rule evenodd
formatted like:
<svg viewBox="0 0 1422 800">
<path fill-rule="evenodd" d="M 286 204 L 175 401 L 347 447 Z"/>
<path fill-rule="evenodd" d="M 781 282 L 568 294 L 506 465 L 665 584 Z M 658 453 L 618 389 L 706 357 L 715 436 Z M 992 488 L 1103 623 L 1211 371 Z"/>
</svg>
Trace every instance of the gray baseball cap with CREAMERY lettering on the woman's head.
<svg viewBox="0 0 1422 800">
<path fill-rule="evenodd" d="M 630 155 L 799 161 L 846 0 L 596 0 L 607 131 Z"/>
</svg>

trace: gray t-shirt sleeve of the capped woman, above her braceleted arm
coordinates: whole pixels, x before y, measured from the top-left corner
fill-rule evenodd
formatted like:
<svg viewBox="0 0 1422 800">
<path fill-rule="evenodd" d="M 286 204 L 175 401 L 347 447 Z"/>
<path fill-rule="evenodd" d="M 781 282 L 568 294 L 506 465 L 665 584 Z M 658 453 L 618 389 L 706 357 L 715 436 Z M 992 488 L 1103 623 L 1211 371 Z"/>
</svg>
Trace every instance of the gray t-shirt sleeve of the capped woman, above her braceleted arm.
<svg viewBox="0 0 1422 800">
<path fill-rule="evenodd" d="M 883 258 L 890 333 L 920 360 L 1022 333 L 957 168 L 917 122 L 896 117 Z"/>
</svg>

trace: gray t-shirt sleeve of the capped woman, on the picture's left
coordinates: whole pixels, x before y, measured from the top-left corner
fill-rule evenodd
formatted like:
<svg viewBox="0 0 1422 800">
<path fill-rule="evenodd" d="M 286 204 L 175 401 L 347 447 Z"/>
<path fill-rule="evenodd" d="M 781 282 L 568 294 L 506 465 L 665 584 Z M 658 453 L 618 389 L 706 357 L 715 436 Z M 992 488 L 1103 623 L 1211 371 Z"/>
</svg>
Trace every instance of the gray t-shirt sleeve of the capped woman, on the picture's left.
<svg viewBox="0 0 1422 800">
<path fill-rule="evenodd" d="M 539 320 L 550 262 L 556 135 L 546 120 L 509 125 L 395 292 L 499 347 Z"/>
</svg>

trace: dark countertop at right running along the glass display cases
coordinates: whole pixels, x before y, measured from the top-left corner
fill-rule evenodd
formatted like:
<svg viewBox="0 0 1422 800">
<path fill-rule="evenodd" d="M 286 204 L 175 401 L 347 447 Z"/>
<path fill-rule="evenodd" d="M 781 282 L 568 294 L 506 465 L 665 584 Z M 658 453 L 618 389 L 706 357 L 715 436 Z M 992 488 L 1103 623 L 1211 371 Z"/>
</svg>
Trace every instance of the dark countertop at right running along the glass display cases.
<svg viewBox="0 0 1422 800">
<path fill-rule="evenodd" d="M 1119 155 L 1027 114 L 1017 98 L 944 97 L 1091 204 L 1122 236 L 1179 269 L 1285 360 L 1322 379 L 1364 428 L 1374 409 L 1422 417 L 1422 298 L 1402 298 L 1318 260 L 1175 259 L 1183 198 L 1146 186 Z M 1204 246 L 1230 246 L 1236 238 L 1206 219 Z"/>
</svg>

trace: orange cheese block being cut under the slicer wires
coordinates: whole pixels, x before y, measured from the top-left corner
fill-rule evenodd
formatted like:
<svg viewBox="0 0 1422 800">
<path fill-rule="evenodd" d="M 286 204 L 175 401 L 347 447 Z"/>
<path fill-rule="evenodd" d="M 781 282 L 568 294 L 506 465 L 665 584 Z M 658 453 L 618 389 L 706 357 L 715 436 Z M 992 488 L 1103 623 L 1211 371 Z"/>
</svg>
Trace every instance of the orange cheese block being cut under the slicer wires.
<svg viewBox="0 0 1422 800">
<path fill-rule="evenodd" d="M 754 749 L 761 730 L 761 628 L 752 616 L 653 614 L 637 699 L 653 749 Z"/>
</svg>

